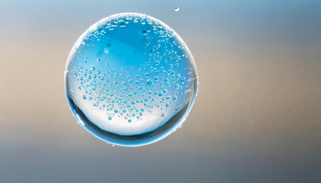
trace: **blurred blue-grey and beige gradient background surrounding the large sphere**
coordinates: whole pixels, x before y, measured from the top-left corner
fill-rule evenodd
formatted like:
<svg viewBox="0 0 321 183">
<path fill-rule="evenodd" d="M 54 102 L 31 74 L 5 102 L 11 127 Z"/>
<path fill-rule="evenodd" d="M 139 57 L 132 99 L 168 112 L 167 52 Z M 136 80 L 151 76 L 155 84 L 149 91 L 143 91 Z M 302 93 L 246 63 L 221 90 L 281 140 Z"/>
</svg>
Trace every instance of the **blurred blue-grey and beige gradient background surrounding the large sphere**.
<svg viewBox="0 0 321 183">
<path fill-rule="evenodd" d="M 172 27 L 200 82 L 183 128 L 136 148 L 64 93 L 73 43 L 121 12 Z M 321 182 L 321 1 L 0 0 L 0 182 Z"/>
</svg>

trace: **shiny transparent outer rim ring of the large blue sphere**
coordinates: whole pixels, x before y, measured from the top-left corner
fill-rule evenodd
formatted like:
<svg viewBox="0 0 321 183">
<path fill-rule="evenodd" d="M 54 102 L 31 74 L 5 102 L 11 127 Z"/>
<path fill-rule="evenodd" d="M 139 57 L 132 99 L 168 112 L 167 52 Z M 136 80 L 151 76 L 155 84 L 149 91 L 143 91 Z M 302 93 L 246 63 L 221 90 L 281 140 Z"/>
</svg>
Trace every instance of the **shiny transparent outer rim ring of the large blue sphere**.
<svg viewBox="0 0 321 183">
<path fill-rule="evenodd" d="M 69 97 L 68 94 L 68 84 L 67 84 L 67 77 L 68 77 L 68 66 L 70 64 L 70 57 L 76 52 L 76 48 L 79 46 L 79 44 L 82 42 L 82 40 L 88 36 L 88 33 L 92 32 L 93 30 L 95 30 L 97 28 L 98 25 L 104 24 L 112 19 L 115 19 L 117 17 L 122 17 L 122 16 L 132 16 L 132 17 L 146 17 L 151 19 L 153 22 L 157 22 L 158 24 L 162 25 L 165 29 L 167 30 L 171 30 L 173 32 L 173 35 L 177 38 L 177 40 L 179 40 L 180 42 L 182 42 L 185 45 L 185 48 L 187 51 L 190 52 L 189 48 L 187 47 L 187 44 L 185 43 L 185 41 L 172 29 L 170 28 L 168 25 L 166 25 L 163 21 L 158 20 L 157 18 L 154 18 L 152 16 L 149 16 L 147 14 L 142 14 L 142 13 L 117 13 L 117 14 L 113 14 L 110 15 L 108 17 L 105 17 L 99 21 L 97 21 L 95 24 L 93 24 L 92 26 L 90 26 L 78 39 L 77 41 L 74 43 L 68 58 L 67 58 L 67 62 L 66 62 L 66 66 L 65 66 L 65 72 L 64 72 L 64 86 L 65 86 L 65 95 L 67 98 L 67 102 L 70 106 L 70 110 L 73 113 L 73 116 L 76 118 L 76 120 L 79 122 L 79 124 L 84 127 L 88 132 L 90 132 L 91 134 L 93 134 L 96 138 L 105 141 L 109 144 L 114 144 L 114 145 L 118 145 L 118 146 L 125 146 L 125 147 L 137 147 L 137 146 L 144 146 L 144 145 L 148 145 L 148 144 L 152 144 L 155 143 L 157 141 L 160 141 L 164 138 L 166 138 L 166 136 L 170 135 L 172 132 L 174 132 L 177 128 L 179 128 L 184 121 L 186 120 L 186 118 L 188 117 L 192 106 L 195 102 L 195 98 L 197 96 L 197 91 L 198 91 L 198 76 L 197 76 L 197 70 L 196 70 L 196 64 L 195 64 L 195 60 L 190 52 L 190 57 L 192 59 L 190 59 L 191 61 L 191 67 L 193 70 L 193 74 L 194 74 L 194 78 L 193 78 L 193 83 L 194 83 L 194 90 L 192 98 L 190 100 L 190 102 L 188 103 L 188 105 L 186 106 L 187 109 L 184 112 L 184 115 L 176 122 L 174 123 L 172 126 L 170 126 L 169 128 L 167 128 L 165 131 L 160 132 L 159 134 L 146 138 L 146 139 L 139 139 L 139 140 L 117 140 L 117 139 L 113 139 L 113 138 L 109 138 L 108 136 L 104 136 L 101 133 L 98 133 L 95 129 L 93 129 L 91 126 L 89 126 L 82 118 L 81 116 L 79 116 L 79 113 L 76 111 L 75 109 L 75 105 L 73 104 L 73 102 L 71 101 L 71 97 Z M 168 122 L 167 122 L 168 123 Z M 165 123 L 165 125 L 167 124 Z M 163 125 L 163 126 L 165 126 Z M 162 128 L 162 127 L 159 127 Z M 104 131 L 104 130 L 103 130 Z M 144 133 L 145 134 L 145 133 Z"/>
</svg>

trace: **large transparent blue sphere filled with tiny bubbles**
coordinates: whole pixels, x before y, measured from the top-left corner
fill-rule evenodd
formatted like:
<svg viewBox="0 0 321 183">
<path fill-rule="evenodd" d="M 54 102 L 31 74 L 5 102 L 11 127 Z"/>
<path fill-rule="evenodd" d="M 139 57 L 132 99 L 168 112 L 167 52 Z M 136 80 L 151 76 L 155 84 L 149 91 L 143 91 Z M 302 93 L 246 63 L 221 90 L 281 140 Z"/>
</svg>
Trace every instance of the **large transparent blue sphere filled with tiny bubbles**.
<svg viewBox="0 0 321 183">
<path fill-rule="evenodd" d="M 139 13 L 92 25 L 73 45 L 64 79 L 79 124 L 119 146 L 165 138 L 185 121 L 197 91 L 196 65 L 183 39 Z"/>
</svg>

